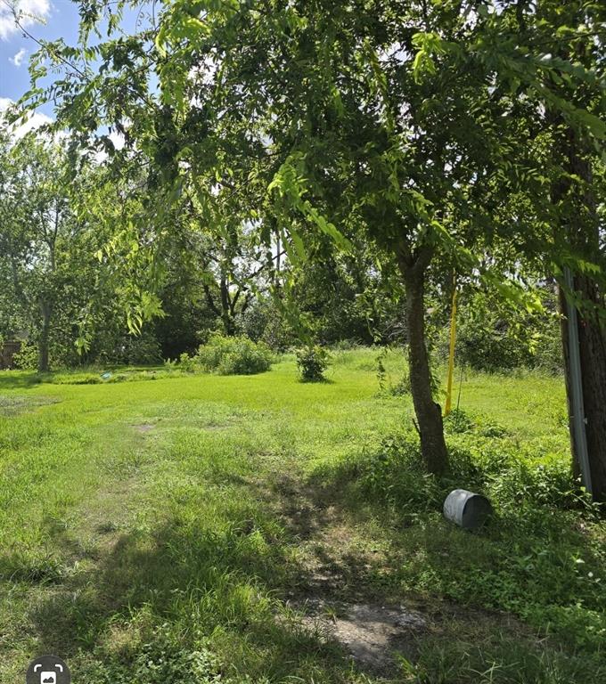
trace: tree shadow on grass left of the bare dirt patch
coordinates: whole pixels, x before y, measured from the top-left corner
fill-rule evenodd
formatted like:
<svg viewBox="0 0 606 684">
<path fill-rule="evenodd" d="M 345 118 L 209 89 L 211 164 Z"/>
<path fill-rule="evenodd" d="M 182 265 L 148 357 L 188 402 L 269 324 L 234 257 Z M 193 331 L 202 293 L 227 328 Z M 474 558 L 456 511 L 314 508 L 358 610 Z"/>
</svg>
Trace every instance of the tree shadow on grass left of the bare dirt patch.
<svg viewBox="0 0 606 684">
<path fill-rule="evenodd" d="M 280 680 L 311 667 L 346 680 L 350 665 L 340 648 L 304 628 L 276 598 L 303 574 L 288 547 L 258 528 L 226 525 L 211 531 L 168 521 L 151 535 L 116 534 L 86 569 L 46 591 L 29 618 L 38 650 L 85 662 L 80 677 L 90 676 L 86 657 L 128 668 L 143 642 L 155 639 L 158 625 L 173 624 L 183 635 L 179 649 L 196 651 L 201 635 L 211 647 L 217 639 L 225 667 L 253 678 Z M 111 643 L 113 626 L 128 631 L 141 611 L 148 615 L 149 631 L 137 636 L 132 627 L 127 646 Z"/>
</svg>

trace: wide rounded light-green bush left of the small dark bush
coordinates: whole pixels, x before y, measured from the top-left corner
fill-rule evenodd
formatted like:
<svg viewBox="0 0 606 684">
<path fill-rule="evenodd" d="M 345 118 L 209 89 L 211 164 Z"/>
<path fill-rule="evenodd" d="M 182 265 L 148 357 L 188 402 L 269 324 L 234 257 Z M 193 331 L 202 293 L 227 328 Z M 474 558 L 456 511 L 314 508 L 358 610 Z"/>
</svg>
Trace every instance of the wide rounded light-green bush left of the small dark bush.
<svg viewBox="0 0 606 684">
<path fill-rule="evenodd" d="M 269 371 L 272 353 L 263 342 L 249 338 L 225 338 L 213 333 L 193 357 L 201 369 L 218 375 L 254 375 Z"/>
</svg>

